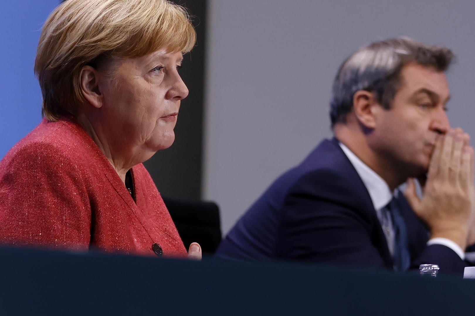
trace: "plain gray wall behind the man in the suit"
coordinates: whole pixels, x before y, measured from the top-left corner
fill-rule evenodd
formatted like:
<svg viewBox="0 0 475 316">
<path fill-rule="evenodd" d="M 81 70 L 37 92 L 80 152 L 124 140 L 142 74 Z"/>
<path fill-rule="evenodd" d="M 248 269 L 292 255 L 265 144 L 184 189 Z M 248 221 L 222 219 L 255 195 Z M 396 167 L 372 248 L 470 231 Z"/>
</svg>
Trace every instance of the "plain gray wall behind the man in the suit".
<svg viewBox="0 0 475 316">
<path fill-rule="evenodd" d="M 469 0 L 210 0 L 202 196 L 218 202 L 223 233 L 332 135 L 335 72 L 374 40 L 410 36 L 452 48 L 448 116 L 474 139 L 474 16 Z"/>
</svg>

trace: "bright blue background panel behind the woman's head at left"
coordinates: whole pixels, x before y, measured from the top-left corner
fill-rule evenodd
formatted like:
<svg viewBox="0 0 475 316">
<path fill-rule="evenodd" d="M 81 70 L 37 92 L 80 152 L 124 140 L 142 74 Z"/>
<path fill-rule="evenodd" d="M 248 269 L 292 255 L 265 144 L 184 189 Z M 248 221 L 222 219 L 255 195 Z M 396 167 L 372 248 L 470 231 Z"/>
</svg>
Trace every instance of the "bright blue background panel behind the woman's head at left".
<svg viewBox="0 0 475 316">
<path fill-rule="evenodd" d="M 41 27 L 58 0 L 2 0 L 0 9 L 0 158 L 41 120 L 33 72 Z"/>
</svg>

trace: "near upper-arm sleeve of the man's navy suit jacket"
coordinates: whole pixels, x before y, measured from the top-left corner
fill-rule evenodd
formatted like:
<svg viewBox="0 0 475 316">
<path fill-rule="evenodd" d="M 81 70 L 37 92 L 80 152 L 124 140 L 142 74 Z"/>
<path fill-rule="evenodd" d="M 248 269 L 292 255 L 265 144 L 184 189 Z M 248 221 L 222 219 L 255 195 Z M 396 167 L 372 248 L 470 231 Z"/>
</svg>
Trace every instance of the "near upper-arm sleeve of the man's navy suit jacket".
<svg viewBox="0 0 475 316">
<path fill-rule="evenodd" d="M 324 176 L 307 174 L 289 190 L 281 213 L 277 255 L 322 264 L 389 268 L 390 262 L 383 260 L 375 246 L 371 218 L 355 212 L 344 199 L 336 202 L 345 192 L 316 181 L 324 181 Z"/>
</svg>

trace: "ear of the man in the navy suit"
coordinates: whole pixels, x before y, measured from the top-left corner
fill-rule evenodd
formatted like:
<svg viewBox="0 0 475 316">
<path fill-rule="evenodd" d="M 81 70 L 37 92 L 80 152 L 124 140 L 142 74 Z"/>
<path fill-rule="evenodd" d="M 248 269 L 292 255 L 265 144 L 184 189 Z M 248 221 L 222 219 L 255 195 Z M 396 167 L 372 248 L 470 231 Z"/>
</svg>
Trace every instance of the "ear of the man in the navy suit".
<svg viewBox="0 0 475 316">
<path fill-rule="evenodd" d="M 353 95 L 353 111 L 358 122 L 366 127 L 373 129 L 376 126 L 376 114 L 380 105 L 374 97 L 374 93 L 359 90 Z"/>
</svg>

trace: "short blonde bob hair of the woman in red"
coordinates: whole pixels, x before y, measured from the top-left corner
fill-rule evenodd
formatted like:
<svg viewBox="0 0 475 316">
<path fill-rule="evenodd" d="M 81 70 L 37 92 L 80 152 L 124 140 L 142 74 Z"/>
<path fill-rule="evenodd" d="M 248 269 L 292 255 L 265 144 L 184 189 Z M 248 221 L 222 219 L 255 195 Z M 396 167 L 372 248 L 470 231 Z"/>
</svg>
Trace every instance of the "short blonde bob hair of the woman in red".
<svg viewBox="0 0 475 316">
<path fill-rule="evenodd" d="M 99 57 L 135 58 L 159 49 L 188 53 L 196 33 L 188 13 L 167 0 L 66 0 L 47 18 L 35 60 L 42 115 L 57 121 L 86 102 L 81 69 Z"/>
</svg>

